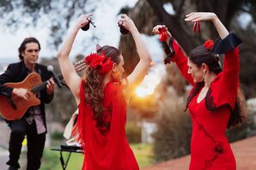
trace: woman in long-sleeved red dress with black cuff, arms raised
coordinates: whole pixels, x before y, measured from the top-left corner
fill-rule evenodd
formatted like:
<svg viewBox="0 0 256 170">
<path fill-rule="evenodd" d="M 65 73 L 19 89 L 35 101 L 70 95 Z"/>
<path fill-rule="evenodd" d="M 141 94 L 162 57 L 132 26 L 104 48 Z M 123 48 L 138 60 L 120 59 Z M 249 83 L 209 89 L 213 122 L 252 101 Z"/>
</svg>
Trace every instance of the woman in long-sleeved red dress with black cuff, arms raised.
<svg viewBox="0 0 256 170">
<path fill-rule="evenodd" d="M 234 170 L 235 157 L 225 131 L 227 127 L 242 123 L 246 114 L 239 90 L 239 50 L 236 47 L 241 40 L 229 33 L 213 13 L 191 13 L 186 15 L 185 21 L 193 21 L 195 25 L 199 25 L 198 21 L 211 21 L 220 35 L 214 46 L 212 41 L 206 41 L 187 58 L 167 27 L 153 28 L 155 34 L 165 30 L 166 42 L 174 50 L 168 57 L 193 86 L 186 103 L 192 118 L 189 169 Z M 225 54 L 223 70 L 216 54 Z"/>
</svg>

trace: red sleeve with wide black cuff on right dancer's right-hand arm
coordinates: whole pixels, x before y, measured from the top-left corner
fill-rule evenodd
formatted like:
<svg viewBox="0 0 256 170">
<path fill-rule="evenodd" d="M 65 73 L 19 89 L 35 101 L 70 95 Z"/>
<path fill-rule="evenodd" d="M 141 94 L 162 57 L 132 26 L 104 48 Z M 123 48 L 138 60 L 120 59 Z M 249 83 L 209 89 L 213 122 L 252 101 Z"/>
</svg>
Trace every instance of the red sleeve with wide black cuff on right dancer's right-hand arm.
<svg viewBox="0 0 256 170">
<path fill-rule="evenodd" d="M 223 70 L 210 85 L 215 108 L 223 105 L 235 108 L 239 88 L 239 49 L 236 46 L 240 43 L 234 33 L 229 33 L 225 39 L 218 39 L 213 48 L 214 53 L 224 53 Z"/>
</svg>

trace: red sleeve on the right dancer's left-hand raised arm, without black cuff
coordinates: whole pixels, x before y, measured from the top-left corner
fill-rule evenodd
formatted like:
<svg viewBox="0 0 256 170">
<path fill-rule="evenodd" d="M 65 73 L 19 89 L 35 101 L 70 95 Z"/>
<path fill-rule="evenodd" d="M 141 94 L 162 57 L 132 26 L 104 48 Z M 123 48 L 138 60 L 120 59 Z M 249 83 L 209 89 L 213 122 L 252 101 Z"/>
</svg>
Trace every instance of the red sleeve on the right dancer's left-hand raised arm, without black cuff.
<svg viewBox="0 0 256 170">
<path fill-rule="evenodd" d="M 192 76 L 190 74 L 187 74 L 188 66 L 186 55 L 184 54 L 183 50 L 180 48 L 179 44 L 175 40 L 173 40 L 173 43 L 170 45 L 172 45 L 174 49 L 174 56 L 171 59 L 171 61 L 177 64 L 181 75 L 184 76 L 186 81 L 194 85 Z"/>
</svg>

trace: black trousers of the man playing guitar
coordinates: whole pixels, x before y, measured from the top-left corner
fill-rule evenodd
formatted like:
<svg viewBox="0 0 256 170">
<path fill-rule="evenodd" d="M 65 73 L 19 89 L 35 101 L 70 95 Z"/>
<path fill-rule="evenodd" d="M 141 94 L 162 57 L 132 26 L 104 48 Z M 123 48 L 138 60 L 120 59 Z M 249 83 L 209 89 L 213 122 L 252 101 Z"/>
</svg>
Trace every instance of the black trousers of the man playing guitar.
<svg viewBox="0 0 256 170">
<path fill-rule="evenodd" d="M 27 124 L 24 119 L 12 121 L 10 124 L 9 161 L 10 167 L 20 168 L 21 143 L 27 135 L 27 170 L 40 169 L 41 157 L 45 148 L 46 133 L 37 134 L 36 124 Z"/>
</svg>

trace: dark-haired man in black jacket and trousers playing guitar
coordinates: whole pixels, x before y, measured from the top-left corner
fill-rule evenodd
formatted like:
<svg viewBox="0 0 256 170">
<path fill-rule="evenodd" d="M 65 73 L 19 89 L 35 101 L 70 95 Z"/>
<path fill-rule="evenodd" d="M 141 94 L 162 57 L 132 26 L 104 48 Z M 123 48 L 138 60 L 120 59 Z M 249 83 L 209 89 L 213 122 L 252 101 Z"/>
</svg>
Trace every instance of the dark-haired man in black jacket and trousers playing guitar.
<svg viewBox="0 0 256 170">
<path fill-rule="evenodd" d="M 31 72 L 37 72 L 42 82 L 47 81 L 45 90 L 40 91 L 37 97 L 39 106 L 31 106 L 21 119 L 7 121 L 11 130 L 9 139 L 9 170 L 20 168 L 18 163 L 21 154 L 21 143 L 27 135 L 27 170 L 40 168 L 40 159 L 46 142 L 46 112 L 45 104 L 53 98 L 54 81 L 46 66 L 37 64 L 40 53 L 38 39 L 29 37 L 24 39 L 19 48 L 21 62 L 9 64 L 7 70 L 0 76 L 0 94 L 11 99 L 18 96 L 24 100 L 29 99 L 32 92 L 25 88 L 9 88 L 6 82 L 22 82 Z"/>
</svg>

